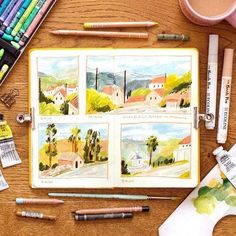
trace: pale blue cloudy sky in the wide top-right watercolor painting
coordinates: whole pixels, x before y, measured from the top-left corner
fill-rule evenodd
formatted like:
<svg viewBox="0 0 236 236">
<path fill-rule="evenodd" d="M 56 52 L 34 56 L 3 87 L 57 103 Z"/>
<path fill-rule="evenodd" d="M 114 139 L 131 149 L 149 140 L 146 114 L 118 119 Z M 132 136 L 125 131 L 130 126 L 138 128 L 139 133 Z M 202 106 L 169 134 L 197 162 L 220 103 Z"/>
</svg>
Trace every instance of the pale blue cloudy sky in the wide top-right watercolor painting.
<svg viewBox="0 0 236 236">
<path fill-rule="evenodd" d="M 179 76 L 191 71 L 189 56 L 118 56 L 118 57 L 88 57 L 89 72 L 110 72 L 127 75 L 136 79 L 147 79 L 161 74 L 178 74 Z"/>
</svg>

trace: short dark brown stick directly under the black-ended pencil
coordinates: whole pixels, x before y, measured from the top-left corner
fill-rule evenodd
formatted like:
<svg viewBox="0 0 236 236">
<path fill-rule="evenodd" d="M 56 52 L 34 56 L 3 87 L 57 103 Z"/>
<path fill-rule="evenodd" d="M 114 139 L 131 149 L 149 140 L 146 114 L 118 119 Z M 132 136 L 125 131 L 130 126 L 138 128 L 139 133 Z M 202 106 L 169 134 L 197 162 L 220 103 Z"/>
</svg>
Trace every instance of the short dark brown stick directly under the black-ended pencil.
<svg viewBox="0 0 236 236">
<path fill-rule="evenodd" d="M 133 213 L 128 212 L 128 213 L 111 213 L 111 214 L 75 215 L 76 221 L 128 219 L 128 218 L 133 218 Z"/>
</svg>

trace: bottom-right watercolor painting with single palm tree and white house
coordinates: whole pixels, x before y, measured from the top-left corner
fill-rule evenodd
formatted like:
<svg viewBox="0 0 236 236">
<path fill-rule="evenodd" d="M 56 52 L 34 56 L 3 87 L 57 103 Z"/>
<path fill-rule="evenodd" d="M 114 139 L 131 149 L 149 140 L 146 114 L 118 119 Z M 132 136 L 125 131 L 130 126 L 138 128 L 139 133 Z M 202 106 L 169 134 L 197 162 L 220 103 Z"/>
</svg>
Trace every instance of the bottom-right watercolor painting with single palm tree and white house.
<svg viewBox="0 0 236 236">
<path fill-rule="evenodd" d="M 121 128 L 121 175 L 190 178 L 190 124 L 139 123 Z"/>
</svg>

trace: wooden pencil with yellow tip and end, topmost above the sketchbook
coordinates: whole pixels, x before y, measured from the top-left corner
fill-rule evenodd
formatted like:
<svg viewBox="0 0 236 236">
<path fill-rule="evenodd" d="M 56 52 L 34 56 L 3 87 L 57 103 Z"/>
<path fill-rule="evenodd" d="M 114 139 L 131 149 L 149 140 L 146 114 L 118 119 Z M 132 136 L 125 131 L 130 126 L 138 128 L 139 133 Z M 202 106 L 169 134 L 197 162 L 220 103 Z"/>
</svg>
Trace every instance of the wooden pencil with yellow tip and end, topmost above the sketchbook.
<svg viewBox="0 0 236 236">
<path fill-rule="evenodd" d="M 85 29 L 103 29 L 103 28 L 141 28 L 158 25 L 157 22 L 91 22 L 84 23 Z"/>
</svg>

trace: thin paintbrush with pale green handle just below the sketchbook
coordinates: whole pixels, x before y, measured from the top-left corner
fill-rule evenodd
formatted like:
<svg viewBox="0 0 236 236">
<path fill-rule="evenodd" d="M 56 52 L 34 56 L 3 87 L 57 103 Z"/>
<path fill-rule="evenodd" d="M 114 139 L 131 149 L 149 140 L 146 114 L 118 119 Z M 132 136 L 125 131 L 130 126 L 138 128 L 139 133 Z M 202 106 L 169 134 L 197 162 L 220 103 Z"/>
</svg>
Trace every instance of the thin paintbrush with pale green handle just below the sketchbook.
<svg viewBox="0 0 236 236">
<path fill-rule="evenodd" d="M 79 197 L 79 198 L 103 198 L 120 200 L 177 200 L 178 197 L 159 197 L 149 195 L 129 194 L 93 194 L 93 193 L 48 193 L 49 197 Z"/>
</svg>

